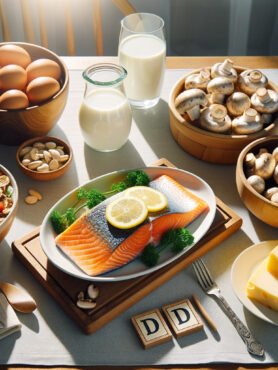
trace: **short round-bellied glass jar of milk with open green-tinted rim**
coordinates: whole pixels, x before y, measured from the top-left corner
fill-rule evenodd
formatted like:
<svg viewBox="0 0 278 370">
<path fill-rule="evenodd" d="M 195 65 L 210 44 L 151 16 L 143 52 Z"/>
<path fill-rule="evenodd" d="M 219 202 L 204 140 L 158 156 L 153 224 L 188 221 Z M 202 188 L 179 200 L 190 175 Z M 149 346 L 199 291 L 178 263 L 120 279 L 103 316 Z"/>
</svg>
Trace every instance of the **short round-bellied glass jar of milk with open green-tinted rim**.
<svg viewBox="0 0 278 370">
<path fill-rule="evenodd" d="M 83 72 L 85 93 L 79 111 L 86 144 L 101 152 L 121 148 L 127 141 L 132 114 L 124 92 L 127 71 L 116 64 L 100 63 Z"/>
</svg>

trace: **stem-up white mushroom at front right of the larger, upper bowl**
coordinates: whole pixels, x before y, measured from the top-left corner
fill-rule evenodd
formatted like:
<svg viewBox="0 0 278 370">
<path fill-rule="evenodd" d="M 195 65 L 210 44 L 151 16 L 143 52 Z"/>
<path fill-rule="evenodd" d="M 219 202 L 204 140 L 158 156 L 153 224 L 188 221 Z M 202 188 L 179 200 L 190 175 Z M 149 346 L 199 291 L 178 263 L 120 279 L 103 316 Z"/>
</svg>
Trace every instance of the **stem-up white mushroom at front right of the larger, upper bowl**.
<svg viewBox="0 0 278 370">
<path fill-rule="evenodd" d="M 236 117 L 232 121 L 232 131 L 234 134 L 248 135 L 260 131 L 263 123 L 260 115 L 255 109 L 247 109 L 242 116 Z"/>
</svg>

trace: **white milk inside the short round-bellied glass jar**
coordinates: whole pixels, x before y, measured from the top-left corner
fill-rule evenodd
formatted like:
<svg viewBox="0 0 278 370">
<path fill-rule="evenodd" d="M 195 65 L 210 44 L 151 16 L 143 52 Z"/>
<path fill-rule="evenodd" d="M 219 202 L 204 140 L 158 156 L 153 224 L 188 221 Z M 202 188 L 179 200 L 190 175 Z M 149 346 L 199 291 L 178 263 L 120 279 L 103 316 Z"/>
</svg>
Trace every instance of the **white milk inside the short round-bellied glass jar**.
<svg viewBox="0 0 278 370">
<path fill-rule="evenodd" d="M 100 88 L 83 100 L 79 123 L 85 142 L 99 151 L 119 149 L 128 139 L 132 121 L 126 96 L 119 90 Z"/>
</svg>

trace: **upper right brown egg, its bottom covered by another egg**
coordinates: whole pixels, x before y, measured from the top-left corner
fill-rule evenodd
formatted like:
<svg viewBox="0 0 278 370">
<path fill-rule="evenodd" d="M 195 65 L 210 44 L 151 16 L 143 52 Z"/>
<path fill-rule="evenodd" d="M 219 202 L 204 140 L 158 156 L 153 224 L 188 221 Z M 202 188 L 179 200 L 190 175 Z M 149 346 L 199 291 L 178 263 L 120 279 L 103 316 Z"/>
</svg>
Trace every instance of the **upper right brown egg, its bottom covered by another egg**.
<svg viewBox="0 0 278 370">
<path fill-rule="evenodd" d="M 58 81 L 62 73 L 59 64 L 51 59 L 34 60 L 34 62 L 29 64 L 26 68 L 26 72 L 28 82 L 37 77 L 53 77 Z"/>
</svg>

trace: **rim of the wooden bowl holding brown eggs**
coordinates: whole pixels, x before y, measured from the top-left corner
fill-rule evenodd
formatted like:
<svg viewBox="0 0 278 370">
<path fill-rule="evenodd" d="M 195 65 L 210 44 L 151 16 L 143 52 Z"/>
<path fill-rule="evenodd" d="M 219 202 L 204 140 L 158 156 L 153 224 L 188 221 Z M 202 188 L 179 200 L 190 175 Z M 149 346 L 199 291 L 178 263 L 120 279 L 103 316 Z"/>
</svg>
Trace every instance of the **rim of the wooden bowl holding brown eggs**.
<svg viewBox="0 0 278 370">
<path fill-rule="evenodd" d="M 28 43 L 28 42 L 16 42 L 16 41 L 11 41 L 11 42 L 0 42 L 0 47 L 1 46 L 4 46 L 4 45 L 18 45 L 18 46 L 21 46 L 24 48 L 24 45 L 26 46 L 31 46 L 31 47 L 34 47 L 34 48 L 37 48 L 39 50 L 43 50 L 47 53 L 49 53 L 50 55 L 52 55 L 54 58 L 56 58 L 57 60 L 59 60 L 62 68 L 63 68 L 63 73 L 65 75 L 65 79 L 63 81 L 63 85 L 62 87 L 60 88 L 60 90 L 55 94 L 53 95 L 51 98 L 43 101 L 42 103 L 40 104 L 36 104 L 36 105 L 32 105 L 31 107 L 27 107 L 27 108 L 23 108 L 23 109 L 0 109 L 0 112 L 28 112 L 28 111 L 31 111 L 31 110 L 34 110 L 34 109 L 38 109 L 39 107 L 42 107 L 48 103 L 50 103 L 52 100 L 55 100 L 58 96 L 60 96 L 64 91 L 65 89 L 67 88 L 68 84 L 69 84 L 69 71 L 67 69 L 67 66 L 66 64 L 64 63 L 64 61 L 58 56 L 58 54 L 54 53 L 53 51 L 51 51 L 50 49 L 47 49 L 43 46 L 40 46 L 40 45 L 36 45 L 36 44 L 31 44 L 31 43 Z"/>
</svg>

